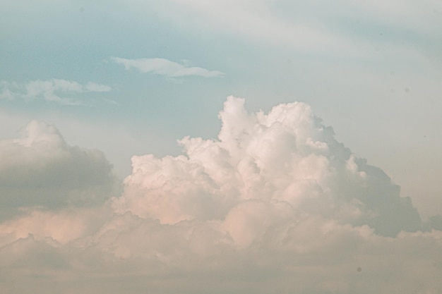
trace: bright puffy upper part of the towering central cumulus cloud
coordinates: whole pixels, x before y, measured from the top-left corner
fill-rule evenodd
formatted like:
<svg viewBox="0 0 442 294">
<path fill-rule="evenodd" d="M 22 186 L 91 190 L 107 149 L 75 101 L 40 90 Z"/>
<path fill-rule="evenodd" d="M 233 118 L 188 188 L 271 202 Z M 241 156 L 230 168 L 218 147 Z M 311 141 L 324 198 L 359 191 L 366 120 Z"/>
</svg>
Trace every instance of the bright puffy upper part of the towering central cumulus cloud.
<svg viewBox="0 0 442 294">
<path fill-rule="evenodd" d="M 220 118 L 218 140 L 179 141 L 186 155 L 133 157 L 114 208 L 169 224 L 224 220 L 241 238 L 248 237 L 235 230 L 253 231 L 253 219 L 263 228 L 261 222 L 313 215 L 382 235 L 420 228 L 410 199 L 400 197 L 381 169 L 336 141 L 310 106 L 295 102 L 249 114 L 244 99 L 228 97 Z"/>
</svg>

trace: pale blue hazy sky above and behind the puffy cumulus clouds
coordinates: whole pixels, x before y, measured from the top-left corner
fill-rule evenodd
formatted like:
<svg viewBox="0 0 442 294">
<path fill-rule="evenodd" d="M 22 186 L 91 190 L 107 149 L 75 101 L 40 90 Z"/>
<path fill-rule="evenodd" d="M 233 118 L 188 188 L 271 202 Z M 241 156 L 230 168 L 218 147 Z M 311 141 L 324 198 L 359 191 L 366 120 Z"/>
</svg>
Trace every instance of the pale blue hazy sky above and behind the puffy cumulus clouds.
<svg viewBox="0 0 442 294">
<path fill-rule="evenodd" d="M 400 195 L 410 197 L 423 221 L 442 212 L 438 179 L 442 174 L 441 1 L 4 2 L 0 11 L 0 146 L 4 154 L 0 155 L 8 158 L 11 152 L 20 157 L 28 143 L 17 143 L 23 148 L 9 147 L 16 144 L 12 142 L 59 134 L 66 142 L 56 139 L 57 148 L 93 164 L 85 164 L 90 170 L 77 171 L 71 166 L 75 160 L 66 159 L 56 166 L 61 173 L 66 170 L 66 175 L 105 173 L 101 179 L 109 181 L 109 186 L 81 195 L 106 192 L 109 195 L 103 197 L 108 199 L 121 194 L 127 203 L 114 204 L 115 213 L 157 216 L 131 206 L 131 185 L 146 183 L 136 176 L 135 166 L 142 160 L 136 157 L 132 169 L 131 158 L 144 154 L 191 158 L 186 153 L 189 147 L 183 151 L 177 140 L 190 136 L 216 141 L 224 125 L 247 121 L 220 120 L 220 111 L 230 105 L 224 104 L 229 95 L 244 98 L 251 117 L 261 109 L 267 114 L 278 104 L 308 104 L 355 158 L 379 166 L 392 185 L 400 186 Z M 259 119 L 256 123 L 265 125 Z M 244 124 L 244 130 L 253 133 L 248 129 L 251 125 Z M 331 144 L 328 137 L 318 137 Z M 259 137 L 254 140 L 261 142 Z M 76 148 L 88 150 L 79 153 L 84 158 Z M 281 147 L 281 154 L 284 150 Z M 37 153 L 30 154 L 23 156 L 28 161 L 11 161 L 13 175 L 19 167 L 49 160 L 42 155 L 32 161 Z M 218 162 L 211 156 L 201 155 L 198 160 Z M 350 162 L 350 155 L 346 160 Z M 104 161 L 113 165 L 112 171 Z M 355 162 L 359 172 L 370 170 L 385 180 L 383 173 L 364 171 L 362 161 Z M 318 163 L 318 170 L 321 166 Z M 5 175 L 9 169 L 4 164 Z M 168 170 L 166 164 L 164 169 Z M 56 171 L 60 172 L 58 168 L 45 172 L 50 178 Z M 124 178 L 123 187 L 112 190 Z M 53 184 L 51 180 L 44 183 Z M 7 191 L 26 201 L 29 191 L 23 187 Z M 68 203 L 75 194 L 50 189 L 54 195 L 64 195 L 60 197 Z M 199 201 L 198 197 L 190 199 Z M 35 203 L 44 207 L 46 202 Z M 178 209 L 178 219 L 180 213 Z M 157 217 L 162 220 L 161 215 Z M 361 223 L 352 226 L 357 224 Z M 368 226 L 377 228 L 370 222 Z"/>
</svg>

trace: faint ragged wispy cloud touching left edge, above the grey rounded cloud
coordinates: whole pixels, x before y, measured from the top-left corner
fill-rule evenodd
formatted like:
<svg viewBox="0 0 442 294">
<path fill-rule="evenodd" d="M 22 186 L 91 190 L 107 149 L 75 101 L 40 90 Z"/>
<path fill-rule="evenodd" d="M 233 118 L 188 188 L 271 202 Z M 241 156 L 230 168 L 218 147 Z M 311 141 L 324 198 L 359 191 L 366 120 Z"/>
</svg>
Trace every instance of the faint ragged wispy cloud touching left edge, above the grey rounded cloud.
<svg viewBox="0 0 442 294">
<path fill-rule="evenodd" d="M 49 102 L 61 104 L 81 104 L 71 99 L 73 94 L 90 92 L 109 92 L 112 90 L 107 85 L 88 82 L 82 85 L 71 80 L 32 80 L 25 85 L 16 82 L 0 82 L 0 99 L 44 99 Z"/>
</svg>

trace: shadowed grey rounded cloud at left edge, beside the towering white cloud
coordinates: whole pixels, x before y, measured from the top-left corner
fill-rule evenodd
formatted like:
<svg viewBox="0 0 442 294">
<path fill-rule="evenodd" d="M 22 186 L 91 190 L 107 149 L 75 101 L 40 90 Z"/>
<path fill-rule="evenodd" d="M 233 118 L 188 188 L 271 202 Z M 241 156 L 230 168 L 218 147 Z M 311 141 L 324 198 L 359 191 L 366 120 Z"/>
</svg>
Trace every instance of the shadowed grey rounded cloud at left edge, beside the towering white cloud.
<svg viewBox="0 0 442 294">
<path fill-rule="evenodd" d="M 0 141 L 0 211 L 93 207 L 112 196 L 112 165 L 102 152 L 70 146 L 53 125 L 31 121 Z"/>
</svg>

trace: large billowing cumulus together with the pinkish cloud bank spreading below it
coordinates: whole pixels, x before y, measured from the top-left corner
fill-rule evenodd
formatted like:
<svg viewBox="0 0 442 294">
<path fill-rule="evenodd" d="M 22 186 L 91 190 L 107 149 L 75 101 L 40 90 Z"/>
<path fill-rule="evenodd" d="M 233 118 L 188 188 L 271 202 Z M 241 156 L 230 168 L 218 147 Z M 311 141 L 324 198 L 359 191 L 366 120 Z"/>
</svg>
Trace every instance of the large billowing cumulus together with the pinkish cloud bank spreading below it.
<svg viewBox="0 0 442 294">
<path fill-rule="evenodd" d="M 124 192 L 102 206 L 29 209 L 1 223 L 0 290 L 442 292 L 442 232 L 424 230 L 398 186 L 308 105 L 249 114 L 229 97 L 220 118 L 217 140 L 186 137 L 178 157 L 133 157 Z"/>
</svg>

